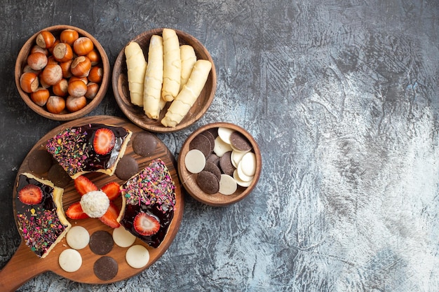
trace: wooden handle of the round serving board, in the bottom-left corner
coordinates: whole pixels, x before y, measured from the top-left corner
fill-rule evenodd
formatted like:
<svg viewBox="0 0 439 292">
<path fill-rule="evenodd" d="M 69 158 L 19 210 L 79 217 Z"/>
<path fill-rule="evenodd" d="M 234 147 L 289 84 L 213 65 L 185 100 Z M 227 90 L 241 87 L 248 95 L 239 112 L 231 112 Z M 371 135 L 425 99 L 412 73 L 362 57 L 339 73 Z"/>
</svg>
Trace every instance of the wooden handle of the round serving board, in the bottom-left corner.
<svg viewBox="0 0 439 292">
<path fill-rule="evenodd" d="M 29 257 L 29 252 L 32 251 L 22 241 L 11 260 L 0 270 L 0 291 L 16 291 L 33 277 L 48 270 L 43 268 L 44 259 L 37 256 Z"/>
</svg>

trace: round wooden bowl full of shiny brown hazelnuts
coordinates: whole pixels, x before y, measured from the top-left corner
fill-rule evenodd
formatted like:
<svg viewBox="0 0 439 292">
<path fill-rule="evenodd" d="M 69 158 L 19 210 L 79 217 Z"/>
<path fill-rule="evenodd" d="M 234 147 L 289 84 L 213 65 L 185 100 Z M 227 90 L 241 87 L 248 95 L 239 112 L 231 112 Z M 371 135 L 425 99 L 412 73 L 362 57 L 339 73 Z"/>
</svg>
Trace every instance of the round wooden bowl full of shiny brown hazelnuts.
<svg viewBox="0 0 439 292">
<path fill-rule="evenodd" d="M 20 96 L 33 111 L 52 120 L 74 120 L 93 111 L 107 92 L 110 76 L 100 43 L 69 25 L 36 32 L 15 62 Z"/>
</svg>

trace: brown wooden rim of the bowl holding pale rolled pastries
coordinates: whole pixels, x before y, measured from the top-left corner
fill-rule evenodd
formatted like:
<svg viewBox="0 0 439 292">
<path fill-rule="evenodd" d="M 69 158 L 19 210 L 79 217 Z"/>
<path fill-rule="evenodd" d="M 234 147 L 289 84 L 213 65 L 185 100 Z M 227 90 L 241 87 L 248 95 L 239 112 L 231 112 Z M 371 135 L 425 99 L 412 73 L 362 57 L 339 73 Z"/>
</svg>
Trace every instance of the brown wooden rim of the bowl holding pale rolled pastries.
<svg viewBox="0 0 439 292">
<path fill-rule="evenodd" d="M 182 37 L 184 39 L 189 39 L 189 40 L 191 40 L 191 42 L 196 43 L 196 45 L 202 49 L 201 52 L 204 55 L 206 55 L 207 60 L 209 60 L 212 64 L 212 69 L 210 70 L 210 76 L 209 76 L 212 79 L 212 90 L 209 93 L 207 102 L 205 102 L 205 104 L 203 104 L 201 111 L 198 111 L 196 116 L 192 116 L 191 119 L 188 121 L 185 121 L 184 120 L 185 118 L 184 118 L 182 120 L 182 122 L 180 124 L 176 125 L 175 127 L 165 127 L 165 126 L 161 125 L 160 122 L 157 122 L 155 125 L 149 125 L 146 123 L 142 123 L 142 120 L 135 117 L 135 115 L 130 111 L 128 106 L 126 106 L 126 102 L 123 101 L 124 98 L 121 97 L 121 94 L 119 93 L 119 89 L 120 89 L 119 88 L 119 82 L 120 82 L 119 76 L 121 74 L 121 64 L 122 64 L 122 62 L 125 62 L 125 52 L 124 51 L 125 51 L 126 46 L 128 46 L 128 43 L 130 43 L 131 41 L 135 41 L 135 42 L 139 43 L 139 41 L 144 39 L 145 37 L 149 37 L 149 39 L 150 39 L 151 36 L 153 36 L 154 34 L 161 35 L 163 32 L 163 29 L 164 28 L 149 29 L 145 32 L 142 32 L 141 34 L 138 34 L 133 39 L 128 41 L 126 43 L 126 45 L 123 46 L 123 48 L 119 52 L 119 55 L 116 57 L 116 61 L 114 62 L 113 73 L 112 73 L 112 88 L 113 88 L 113 92 L 114 92 L 114 98 L 116 99 L 116 102 L 119 105 L 119 108 L 121 109 L 121 111 L 123 111 L 123 113 L 126 115 L 126 117 L 128 119 L 130 119 L 133 123 L 135 123 L 135 125 L 137 125 L 138 127 L 142 127 L 144 130 L 149 130 L 151 132 L 158 132 L 158 133 L 176 132 L 176 131 L 182 130 L 182 129 L 189 127 L 190 125 L 193 125 L 194 123 L 196 123 L 198 120 L 200 120 L 204 116 L 205 112 L 208 111 L 210 104 L 212 104 L 212 101 L 215 97 L 215 92 L 217 89 L 217 73 L 216 73 L 216 69 L 215 69 L 215 63 L 213 62 L 212 56 L 210 55 L 209 51 L 205 48 L 205 46 L 203 46 L 203 43 L 198 41 L 198 39 L 196 39 L 191 34 L 188 34 L 187 32 L 182 32 L 179 29 L 173 29 L 177 33 L 177 36 L 179 36 L 180 41 L 181 41 L 181 37 Z M 149 41 L 149 39 L 148 39 L 148 41 Z M 197 57 L 199 55 L 199 52 L 200 51 L 197 52 L 197 50 L 195 52 Z M 147 51 L 144 52 L 144 55 L 145 55 L 145 57 L 147 57 Z M 151 119 L 147 118 L 146 115 L 144 116 L 144 119 L 151 120 Z"/>
</svg>

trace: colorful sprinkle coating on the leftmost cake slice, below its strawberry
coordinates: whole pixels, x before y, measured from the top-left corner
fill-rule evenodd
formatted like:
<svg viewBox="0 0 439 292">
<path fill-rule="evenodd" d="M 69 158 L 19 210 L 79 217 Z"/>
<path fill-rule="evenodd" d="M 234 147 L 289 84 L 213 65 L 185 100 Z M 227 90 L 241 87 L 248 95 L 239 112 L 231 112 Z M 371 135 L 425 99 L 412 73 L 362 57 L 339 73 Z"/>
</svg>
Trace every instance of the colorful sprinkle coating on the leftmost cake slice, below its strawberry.
<svg viewBox="0 0 439 292">
<path fill-rule="evenodd" d="M 31 214 L 18 214 L 18 225 L 26 245 L 41 257 L 65 230 L 65 226 L 55 209 L 32 209 Z"/>
</svg>

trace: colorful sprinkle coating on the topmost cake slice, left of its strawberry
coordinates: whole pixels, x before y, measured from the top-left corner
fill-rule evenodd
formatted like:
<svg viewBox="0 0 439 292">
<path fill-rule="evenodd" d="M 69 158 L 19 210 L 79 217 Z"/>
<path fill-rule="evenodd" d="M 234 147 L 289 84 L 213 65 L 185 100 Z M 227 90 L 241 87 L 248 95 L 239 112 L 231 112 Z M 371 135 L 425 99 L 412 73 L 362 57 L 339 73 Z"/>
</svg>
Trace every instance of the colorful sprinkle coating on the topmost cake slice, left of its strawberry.
<svg viewBox="0 0 439 292">
<path fill-rule="evenodd" d="M 49 139 L 46 148 L 69 175 L 76 174 L 83 169 L 88 159 L 90 147 L 86 139 L 87 132 L 77 128 L 68 128 Z"/>
</svg>

